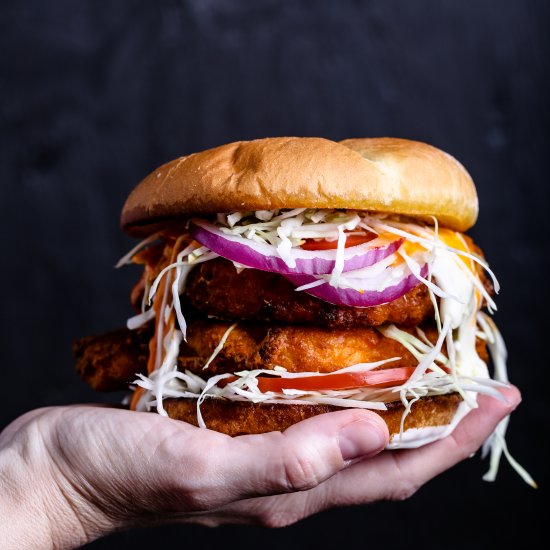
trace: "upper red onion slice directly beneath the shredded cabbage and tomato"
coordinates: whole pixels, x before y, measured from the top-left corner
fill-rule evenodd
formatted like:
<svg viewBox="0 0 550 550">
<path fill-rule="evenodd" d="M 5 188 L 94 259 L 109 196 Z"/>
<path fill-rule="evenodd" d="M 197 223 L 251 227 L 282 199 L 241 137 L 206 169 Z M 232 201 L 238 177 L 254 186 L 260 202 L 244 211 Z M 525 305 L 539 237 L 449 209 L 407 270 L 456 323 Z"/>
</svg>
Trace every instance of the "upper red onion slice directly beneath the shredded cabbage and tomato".
<svg viewBox="0 0 550 550">
<path fill-rule="evenodd" d="M 289 267 L 277 254 L 274 246 L 259 243 L 238 235 L 227 235 L 218 227 L 203 220 L 193 220 L 191 235 L 203 246 L 239 264 L 274 273 L 325 275 L 332 273 L 336 264 L 336 250 L 302 250 L 292 248 L 291 258 L 296 267 Z M 403 243 L 402 238 L 393 241 L 374 239 L 344 250 L 343 271 L 353 271 L 374 265 L 393 254 Z"/>
</svg>

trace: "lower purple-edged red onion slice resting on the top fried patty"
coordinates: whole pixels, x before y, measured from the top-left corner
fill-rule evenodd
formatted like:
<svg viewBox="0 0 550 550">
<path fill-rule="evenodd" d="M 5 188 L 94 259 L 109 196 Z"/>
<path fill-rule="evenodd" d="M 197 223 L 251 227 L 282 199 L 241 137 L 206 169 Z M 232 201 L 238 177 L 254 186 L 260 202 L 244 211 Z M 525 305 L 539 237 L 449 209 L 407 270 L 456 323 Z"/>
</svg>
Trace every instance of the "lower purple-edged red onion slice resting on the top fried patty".
<svg viewBox="0 0 550 550">
<path fill-rule="evenodd" d="M 392 268 L 388 267 L 386 269 Z M 420 273 L 422 277 L 425 277 L 428 273 L 428 266 L 424 265 Z M 285 274 L 285 277 L 297 287 L 307 285 L 318 280 L 317 277 L 313 277 L 311 275 Z M 407 292 L 419 284 L 420 281 L 411 273 L 409 275 L 405 275 L 395 285 L 388 286 L 381 291 L 364 290 L 360 292 L 353 288 L 335 288 L 327 282 L 300 292 L 306 292 L 311 296 L 315 296 L 316 298 L 337 306 L 371 307 L 397 300 L 397 298 L 407 294 Z"/>
</svg>

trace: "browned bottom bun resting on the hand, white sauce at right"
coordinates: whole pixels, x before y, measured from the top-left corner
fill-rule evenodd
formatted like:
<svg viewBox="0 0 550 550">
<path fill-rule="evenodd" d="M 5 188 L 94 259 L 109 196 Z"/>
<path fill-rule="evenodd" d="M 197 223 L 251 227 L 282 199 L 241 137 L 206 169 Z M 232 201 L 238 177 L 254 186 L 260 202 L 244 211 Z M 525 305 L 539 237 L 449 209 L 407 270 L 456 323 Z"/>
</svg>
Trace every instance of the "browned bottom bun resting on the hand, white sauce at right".
<svg viewBox="0 0 550 550">
<path fill-rule="evenodd" d="M 165 399 L 163 404 L 170 418 L 198 426 L 195 399 Z M 373 412 L 388 425 L 389 448 L 419 447 L 445 437 L 470 410 L 457 393 L 423 397 L 412 405 L 400 436 L 405 407 L 400 401 L 386 403 L 386 407 L 385 411 Z M 306 418 L 339 410 L 344 409 L 332 405 L 252 403 L 221 398 L 209 398 L 201 404 L 206 427 L 230 436 L 282 431 Z"/>
</svg>

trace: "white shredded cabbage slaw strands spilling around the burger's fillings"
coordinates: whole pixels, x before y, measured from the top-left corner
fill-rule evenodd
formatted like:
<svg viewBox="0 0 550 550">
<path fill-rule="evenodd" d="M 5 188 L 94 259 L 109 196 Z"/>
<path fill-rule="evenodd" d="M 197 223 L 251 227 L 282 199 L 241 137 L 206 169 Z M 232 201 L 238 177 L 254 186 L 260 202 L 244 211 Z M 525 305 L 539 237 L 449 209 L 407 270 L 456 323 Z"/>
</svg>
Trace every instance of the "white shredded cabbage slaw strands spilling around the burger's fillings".
<svg viewBox="0 0 550 550">
<path fill-rule="evenodd" d="M 474 265 L 479 265 L 484 269 L 493 281 L 495 291 L 499 291 L 498 280 L 494 273 L 490 270 L 487 264 L 477 255 L 470 252 L 469 245 L 465 239 L 457 232 L 449 233 L 450 242 L 453 242 L 453 238 L 456 237 L 461 243 L 464 250 L 449 246 L 442 240 L 439 232 L 439 226 L 437 220 L 434 219 L 434 228 L 421 225 L 413 225 L 409 223 L 399 222 L 395 220 L 385 219 L 384 216 L 373 217 L 368 214 L 359 215 L 356 211 L 338 211 L 338 210 L 314 210 L 314 209 L 294 209 L 294 210 L 276 210 L 276 211 L 257 211 L 257 212 L 236 212 L 229 215 L 218 215 L 218 224 L 221 225 L 220 229 L 227 234 L 241 235 L 245 238 L 255 240 L 257 242 L 267 243 L 273 246 L 280 254 L 281 258 L 288 261 L 290 258 L 289 250 L 293 247 L 299 247 L 303 242 L 303 239 L 319 238 L 328 240 L 337 240 L 336 246 L 336 260 L 335 266 L 330 273 L 330 276 L 325 277 L 323 281 L 310 283 L 306 285 L 302 290 L 311 288 L 317 284 L 324 284 L 328 282 L 331 286 L 340 287 L 340 284 L 344 285 L 344 278 L 342 278 L 342 266 L 344 258 L 344 250 L 346 243 L 346 231 L 352 231 L 355 228 L 362 228 L 372 233 L 381 235 L 383 233 L 393 234 L 400 237 L 404 237 L 412 243 L 417 243 L 425 249 L 424 253 L 420 256 L 426 259 L 427 264 L 427 276 L 420 272 L 420 264 L 417 261 L 416 253 L 415 258 L 412 258 L 407 254 L 405 247 L 398 250 L 398 255 L 403 259 L 406 266 L 412 274 L 428 288 L 430 300 L 434 306 L 435 322 L 438 328 L 438 339 L 435 345 L 431 345 L 426 335 L 417 329 L 419 338 L 412 335 L 403 337 L 403 333 L 394 333 L 401 338 L 396 338 L 401 341 L 401 344 L 413 354 L 419 361 L 411 378 L 403 384 L 401 387 L 389 388 L 384 390 L 377 390 L 371 392 L 365 391 L 346 391 L 346 392 L 310 392 L 308 395 L 302 395 L 299 400 L 306 402 L 328 402 L 342 403 L 340 406 L 347 406 L 352 403 L 363 403 L 363 406 L 371 406 L 367 401 L 368 396 L 385 396 L 387 397 L 391 392 L 399 392 L 400 399 L 404 404 L 405 411 L 402 415 L 400 431 L 401 434 L 404 429 L 404 422 L 407 414 L 409 414 L 413 404 L 425 395 L 439 395 L 442 393 L 449 393 L 451 391 L 459 392 L 465 399 L 466 403 L 473 407 L 475 403 L 468 399 L 468 393 L 470 391 L 476 393 L 484 393 L 492 395 L 496 398 L 501 398 L 500 392 L 497 391 L 498 383 L 507 383 L 508 377 L 506 374 L 506 349 L 504 342 L 498 329 L 492 322 L 492 320 L 484 313 L 478 312 L 481 305 L 481 300 L 476 295 L 475 304 L 472 306 L 470 302 L 464 301 L 464 295 L 460 295 L 461 300 L 457 296 L 445 292 L 441 288 L 441 282 L 438 280 L 438 276 L 441 275 L 439 271 L 434 271 L 433 263 L 435 258 L 435 252 L 437 250 L 445 251 L 449 254 L 447 256 L 442 255 L 439 261 L 451 262 L 456 264 L 460 270 L 467 275 L 466 280 L 471 285 L 471 295 L 473 292 L 478 292 L 483 296 L 489 311 L 496 309 L 496 305 L 488 294 L 487 290 L 483 287 L 479 276 L 474 269 Z M 259 220 L 259 221 L 258 221 Z M 225 225 L 225 227 L 223 227 Z M 455 237 L 453 237 L 453 235 Z M 152 235 L 137 247 L 135 247 L 130 253 L 121 259 L 119 264 L 126 263 L 133 255 L 148 244 L 154 242 L 158 238 L 158 235 Z M 423 255 L 422 255 L 423 254 Z M 235 382 L 227 383 L 223 388 L 217 386 L 217 384 L 233 375 L 218 375 L 210 378 L 206 382 L 198 383 L 190 374 L 182 374 L 177 372 L 177 353 L 174 359 L 174 353 L 176 347 L 179 348 L 177 342 L 177 334 L 185 337 L 186 323 L 181 311 L 181 304 L 179 302 L 179 295 L 183 292 L 185 285 L 185 279 L 192 268 L 192 265 L 208 261 L 217 257 L 217 254 L 211 252 L 206 247 L 198 247 L 195 245 L 193 250 L 182 251 L 175 258 L 175 262 L 166 266 L 161 273 L 157 276 L 151 287 L 148 289 L 149 302 L 152 301 L 156 293 L 162 295 L 162 300 L 155 300 L 155 304 L 151 310 L 145 311 L 141 316 L 135 316 L 129 324 L 132 326 L 139 326 L 141 322 L 147 322 L 153 315 L 158 317 L 158 334 L 156 334 L 156 361 L 155 371 L 151 373 L 151 378 L 157 378 L 153 380 L 155 384 L 140 379 L 137 381 L 138 388 L 134 397 L 139 402 L 143 402 L 144 396 L 138 396 L 138 391 L 153 392 L 155 399 L 149 401 L 149 404 L 153 404 L 159 411 L 163 411 L 162 398 L 166 396 L 196 396 L 197 397 L 197 417 L 199 425 L 204 427 L 204 421 L 200 416 L 200 404 L 204 399 L 208 397 L 224 396 L 235 400 L 250 399 L 257 401 L 269 401 L 269 402 L 296 402 L 296 397 L 300 396 L 300 392 L 295 390 L 285 390 L 285 393 L 280 395 L 268 395 L 262 394 L 258 390 L 258 383 L 254 374 L 247 373 L 242 375 L 239 380 Z M 469 266 L 467 262 L 460 260 L 461 258 L 467 258 L 470 260 Z M 175 269 L 174 280 L 171 280 L 171 270 Z M 456 268 L 455 268 L 456 269 Z M 438 275 L 439 274 L 439 275 Z M 349 279 L 350 275 L 346 274 Z M 341 281 L 342 278 L 342 281 Z M 464 283 L 466 284 L 466 283 Z M 171 285 L 171 303 L 167 303 L 168 285 Z M 446 288 L 443 285 L 443 288 Z M 470 287 L 468 287 L 469 289 Z M 464 287 L 466 289 L 466 287 Z M 461 308 L 457 310 L 454 308 L 455 315 L 451 319 L 449 308 L 440 307 L 441 304 L 436 299 L 436 296 L 441 299 L 443 304 L 445 301 L 453 300 L 456 303 L 460 303 Z M 161 315 L 162 313 L 162 315 Z M 176 331 L 174 328 L 174 318 L 177 318 L 181 331 Z M 461 354 L 464 353 L 458 344 L 455 345 L 455 331 L 457 334 L 457 342 L 460 341 L 461 330 L 465 330 L 464 327 L 473 325 L 471 330 L 475 330 L 476 334 L 485 337 L 491 350 L 493 362 L 495 365 L 495 378 L 496 382 L 487 382 L 478 376 L 480 370 L 478 367 L 470 372 L 469 376 L 461 375 L 461 369 L 463 366 L 460 364 Z M 477 322 L 476 322 L 477 320 Z M 168 334 L 163 338 L 163 329 L 165 325 L 168 327 Z M 226 343 L 227 337 L 230 331 L 234 328 L 232 325 L 226 333 L 223 335 L 220 343 L 215 348 L 212 356 L 205 364 L 205 368 L 208 367 L 211 361 L 220 352 Z M 477 328 L 479 326 L 479 329 Z M 398 329 L 396 329 L 398 330 Z M 470 330 L 470 328 L 468 328 Z M 174 340 L 175 338 L 175 340 Z M 468 340 L 468 339 L 467 339 Z M 180 340 L 181 341 L 181 340 Z M 470 338 L 471 341 L 471 338 Z M 475 338 L 473 340 L 475 342 Z M 443 343 L 446 342 L 448 357 L 445 357 L 441 350 Z M 177 344 L 177 345 L 176 345 Z M 469 344 L 471 345 L 471 344 Z M 475 353 L 475 350 L 470 350 L 470 353 Z M 477 354 L 475 355 L 477 357 Z M 159 357 L 162 359 L 162 365 L 159 365 Z M 450 373 L 447 374 L 445 370 L 441 369 L 437 364 L 443 363 L 445 366 L 450 366 Z M 157 372 L 160 371 L 160 372 Z M 430 372 L 428 372 L 430 371 Z M 273 374 L 273 371 L 272 371 Z M 148 385 L 149 384 L 149 385 Z M 145 386 L 147 386 L 145 388 Z M 144 389 L 145 388 L 145 389 Z M 189 391 L 192 390 L 192 391 Z M 200 390 L 200 392 L 199 392 Z M 500 397 L 499 397 L 500 396 Z M 138 399 L 139 397 L 139 399 Z M 345 403 L 345 404 L 344 404 Z M 161 413 L 162 414 L 162 413 Z M 484 445 L 485 452 L 488 449 L 491 450 L 490 471 L 487 473 L 487 479 L 494 479 L 496 472 L 498 471 L 498 462 L 501 455 L 504 454 L 512 467 L 531 485 L 534 485 L 532 478 L 525 472 L 519 464 L 511 457 L 504 440 L 504 435 L 507 426 L 507 419 L 499 424 L 497 430 L 491 438 L 488 439 Z"/>
</svg>

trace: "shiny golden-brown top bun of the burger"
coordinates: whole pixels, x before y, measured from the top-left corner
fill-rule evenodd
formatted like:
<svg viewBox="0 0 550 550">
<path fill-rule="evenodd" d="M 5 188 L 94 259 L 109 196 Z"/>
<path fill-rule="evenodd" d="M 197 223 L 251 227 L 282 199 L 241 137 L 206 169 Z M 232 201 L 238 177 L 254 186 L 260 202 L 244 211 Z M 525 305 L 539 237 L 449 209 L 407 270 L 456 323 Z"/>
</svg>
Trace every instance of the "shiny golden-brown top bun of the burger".
<svg viewBox="0 0 550 550">
<path fill-rule="evenodd" d="M 237 141 L 164 164 L 132 191 L 121 224 L 143 236 L 177 217 L 304 207 L 434 216 L 458 231 L 470 228 L 478 212 L 468 172 L 431 145 L 281 137 Z"/>
</svg>

